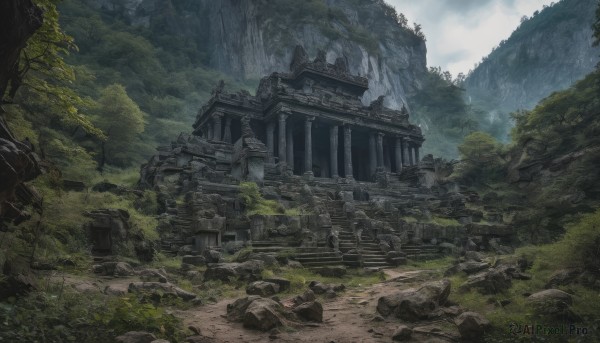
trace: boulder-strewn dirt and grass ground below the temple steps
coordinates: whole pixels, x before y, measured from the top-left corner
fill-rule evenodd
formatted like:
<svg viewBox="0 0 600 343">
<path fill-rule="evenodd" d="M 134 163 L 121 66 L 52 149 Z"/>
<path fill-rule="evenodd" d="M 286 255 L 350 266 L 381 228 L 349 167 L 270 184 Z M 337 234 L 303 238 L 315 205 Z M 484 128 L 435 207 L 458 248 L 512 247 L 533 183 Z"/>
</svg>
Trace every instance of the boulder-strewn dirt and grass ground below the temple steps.
<svg viewBox="0 0 600 343">
<path fill-rule="evenodd" d="M 523 292 L 523 285 L 535 282 L 528 265 L 513 255 L 476 252 L 383 270 L 338 267 L 343 273 L 336 269 L 335 276 L 292 263 L 267 268 L 262 260 L 193 268 L 183 263 L 183 269 L 104 262 L 94 274 L 49 272 L 49 280 L 85 294 L 158 299 L 182 320 L 184 341 L 191 343 L 483 341 L 509 335 L 498 313 L 512 320 L 520 309 L 553 318 L 549 323 L 581 321 L 572 311 L 576 292 L 553 288 L 570 274 Z M 162 302 L 165 297 L 178 301 Z M 117 341 L 166 342 L 144 332 Z"/>
</svg>

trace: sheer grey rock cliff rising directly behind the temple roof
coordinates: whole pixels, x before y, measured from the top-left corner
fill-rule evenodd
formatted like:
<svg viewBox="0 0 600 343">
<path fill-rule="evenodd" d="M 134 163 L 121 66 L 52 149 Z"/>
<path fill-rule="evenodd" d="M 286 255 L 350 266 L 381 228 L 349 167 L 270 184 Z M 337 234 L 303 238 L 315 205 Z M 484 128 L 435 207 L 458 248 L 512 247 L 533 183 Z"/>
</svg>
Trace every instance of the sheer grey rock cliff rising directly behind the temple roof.
<svg viewBox="0 0 600 343">
<path fill-rule="evenodd" d="M 238 80 L 288 71 L 293 48 L 301 44 L 312 57 L 325 50 L 328 62 L 346 57 L 352 73 L 369 79 L 365 104 L 386 95 L 386 106 L 400 108 L 427 71 L 425 42 L 386 15 L 380 0 L 88 3 L 134 25 L 190 39 L 203 49 L 205 64 Z"/>
</svg>

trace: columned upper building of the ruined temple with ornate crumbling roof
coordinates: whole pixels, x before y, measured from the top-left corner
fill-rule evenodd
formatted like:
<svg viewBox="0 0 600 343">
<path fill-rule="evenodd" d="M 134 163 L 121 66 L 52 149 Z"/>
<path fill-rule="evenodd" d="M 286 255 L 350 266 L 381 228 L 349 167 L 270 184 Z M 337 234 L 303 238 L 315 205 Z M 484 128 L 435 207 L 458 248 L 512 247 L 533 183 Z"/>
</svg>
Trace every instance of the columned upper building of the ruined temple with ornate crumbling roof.
<svg viewBox="0 0 600 343">
<path fill-rule="evenodd" d="M 319 51 L 311 61 L 297 46 L 290 71 L 263 78 L 256 96 L 223 88 L 200 110 L 193 135 L 234 145 L 231 175 L 239 180 L 261 181 L 270 168 L 369 182 L 420 160 L 424 138 L 406 107 L 386 108 L 383 96 L 363 105 L 368 80 L 350 74 L 344 58 L 330 64 Z"/>
</svg>

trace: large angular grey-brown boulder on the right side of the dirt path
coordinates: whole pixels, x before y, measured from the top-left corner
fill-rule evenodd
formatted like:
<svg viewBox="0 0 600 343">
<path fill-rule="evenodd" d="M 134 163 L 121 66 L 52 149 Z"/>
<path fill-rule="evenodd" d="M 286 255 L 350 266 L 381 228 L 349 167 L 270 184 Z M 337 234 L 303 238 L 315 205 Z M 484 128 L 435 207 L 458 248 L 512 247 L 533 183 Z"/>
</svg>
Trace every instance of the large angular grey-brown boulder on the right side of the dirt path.
<svg viewBox="0 0 600 343">
<path fill-rule="evenodd" d="M 384 316 L 414 322 L 427 319 L 439 306 L 444 305 L 450 294 L 450 281 L 428 282 L 421 287 L 407 289 L 379 298 L 377 311 Z"/>
</svg>

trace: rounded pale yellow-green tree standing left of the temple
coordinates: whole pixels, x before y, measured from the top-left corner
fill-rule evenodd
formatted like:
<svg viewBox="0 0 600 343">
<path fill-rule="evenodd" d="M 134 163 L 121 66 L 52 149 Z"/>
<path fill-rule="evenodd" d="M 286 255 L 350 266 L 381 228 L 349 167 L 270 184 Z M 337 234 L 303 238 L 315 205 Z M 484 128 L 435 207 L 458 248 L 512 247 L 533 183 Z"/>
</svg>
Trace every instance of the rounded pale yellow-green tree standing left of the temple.
<svg viewBox="0 0 600 343">
<path fill-rule="evenodd" d="M 115 162 L 119 153 L 131 150 L 132 143 L 144 132 L 144 113 L 127 95 L 125 87 L 112 84 L 102 90 L 96 124 L 107 139 L 101 142 L 99 170 L 106 162 Z"/>
</svg>

